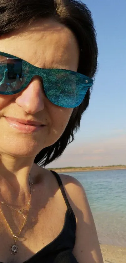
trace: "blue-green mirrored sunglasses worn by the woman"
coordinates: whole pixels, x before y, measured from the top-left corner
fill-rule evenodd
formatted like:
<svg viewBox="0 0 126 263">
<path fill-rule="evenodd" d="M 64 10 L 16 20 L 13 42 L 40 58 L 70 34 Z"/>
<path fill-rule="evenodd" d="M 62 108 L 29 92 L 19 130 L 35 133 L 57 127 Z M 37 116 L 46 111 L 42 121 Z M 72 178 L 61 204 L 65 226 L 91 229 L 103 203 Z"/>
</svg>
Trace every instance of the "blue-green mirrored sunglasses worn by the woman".
<svg viewBox="0 0 126 263">
<path fill-rule="evenodd" d="M 65 69 L 43 69 L 16 56 L 0 52 L 0 94 L 13 95 L 25 89 L 33 76 L 40 76 L 47 98 L 57 106 L 79 106 L 93 79 Z"/>
</svg>

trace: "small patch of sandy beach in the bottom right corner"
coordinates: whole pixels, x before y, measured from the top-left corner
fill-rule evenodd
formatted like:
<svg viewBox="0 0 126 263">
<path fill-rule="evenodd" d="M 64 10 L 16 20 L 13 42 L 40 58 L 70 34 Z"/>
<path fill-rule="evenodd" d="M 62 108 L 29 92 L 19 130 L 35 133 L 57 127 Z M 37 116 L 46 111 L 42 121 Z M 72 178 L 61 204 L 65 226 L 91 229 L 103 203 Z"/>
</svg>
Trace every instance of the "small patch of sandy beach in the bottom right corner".
<svg viewBox="0 0 126 263">
<path fill-rule="evenodd" d="M 100 244 L 104 263 L 126 263 L 126 247 Z"/>
</svg>

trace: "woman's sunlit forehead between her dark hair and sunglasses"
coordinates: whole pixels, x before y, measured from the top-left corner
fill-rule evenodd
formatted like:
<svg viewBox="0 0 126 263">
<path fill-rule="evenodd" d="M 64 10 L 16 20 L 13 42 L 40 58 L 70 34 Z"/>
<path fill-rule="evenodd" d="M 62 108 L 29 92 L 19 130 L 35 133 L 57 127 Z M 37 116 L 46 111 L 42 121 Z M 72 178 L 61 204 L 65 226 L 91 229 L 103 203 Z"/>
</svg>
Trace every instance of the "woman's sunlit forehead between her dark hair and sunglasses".
<svg viewBox="0 0 126 263">
<path fill-rule="evenodd" d="M 3 52 L 43 68 L 68 68 L 78 64 L 79 48 L 70 29 L 55 21 L 38 21 L 0 39 Z M 75 70 L 75 65 L 73 65 Z"/>
</svg>

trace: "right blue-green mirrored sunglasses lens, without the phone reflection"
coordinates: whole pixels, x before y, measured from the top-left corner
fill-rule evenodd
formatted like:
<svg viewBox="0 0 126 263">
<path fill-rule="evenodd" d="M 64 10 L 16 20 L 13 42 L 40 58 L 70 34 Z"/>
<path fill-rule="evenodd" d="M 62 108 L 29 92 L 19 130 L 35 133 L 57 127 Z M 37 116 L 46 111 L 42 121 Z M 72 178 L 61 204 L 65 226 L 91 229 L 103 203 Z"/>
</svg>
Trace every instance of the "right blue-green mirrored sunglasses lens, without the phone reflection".
<svg viewBox="0 0 126 263">
<path fill-rule="evenodd" d="M 43 80 L 44 90 L 48 99 L 60 107 L 75 108 L 81 104 L 91 83 L 80 79 L 79 73 L 64 70 L 49 70 Z"/>
</svg>

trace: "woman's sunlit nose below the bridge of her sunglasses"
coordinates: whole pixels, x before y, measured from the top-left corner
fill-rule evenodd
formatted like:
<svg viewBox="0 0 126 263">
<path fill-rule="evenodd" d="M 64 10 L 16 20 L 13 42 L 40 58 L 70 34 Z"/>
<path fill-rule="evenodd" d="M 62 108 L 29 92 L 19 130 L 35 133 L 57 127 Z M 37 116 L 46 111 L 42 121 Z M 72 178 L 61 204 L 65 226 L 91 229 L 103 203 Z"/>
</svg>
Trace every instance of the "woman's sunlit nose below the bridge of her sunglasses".
<svg viewBox="0 0 126 263">
<path fill-rule="evenodd" d="M 28 86 L 19 93 L 15 102 L 27 113 L 35 114 L 44 109 L 44 98 L 42 81 L 39 77 L 34 77 Z"/>
</svg>

